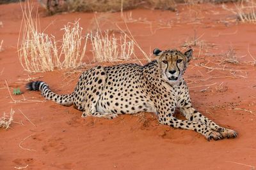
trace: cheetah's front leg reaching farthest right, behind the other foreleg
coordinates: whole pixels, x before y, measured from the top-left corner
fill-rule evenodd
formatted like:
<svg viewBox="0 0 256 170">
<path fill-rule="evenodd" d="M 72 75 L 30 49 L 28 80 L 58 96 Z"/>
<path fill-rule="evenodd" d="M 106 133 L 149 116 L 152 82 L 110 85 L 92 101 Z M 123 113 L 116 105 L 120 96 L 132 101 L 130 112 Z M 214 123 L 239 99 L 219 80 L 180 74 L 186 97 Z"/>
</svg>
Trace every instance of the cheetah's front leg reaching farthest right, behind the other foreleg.
<svg viewBox="0 0 256 170">
<path fill-rule="evenodd" d="M 210 127 L 216 132 L 219 132 L 223 138 L 235 138 L 237 136 L 237 132 L 231 129 L 225 129 L 224 127 L 220 127 L 219 125 L 215 124 L 212 120 L 207 117 L 204 117 L 201 113 L 196 111 L 191 104 L 186 103 L 185 106 L 180 108 L 182 114 L 190 121 L 193 122 L 200 122 L 207 127 Z"/>
</svg>

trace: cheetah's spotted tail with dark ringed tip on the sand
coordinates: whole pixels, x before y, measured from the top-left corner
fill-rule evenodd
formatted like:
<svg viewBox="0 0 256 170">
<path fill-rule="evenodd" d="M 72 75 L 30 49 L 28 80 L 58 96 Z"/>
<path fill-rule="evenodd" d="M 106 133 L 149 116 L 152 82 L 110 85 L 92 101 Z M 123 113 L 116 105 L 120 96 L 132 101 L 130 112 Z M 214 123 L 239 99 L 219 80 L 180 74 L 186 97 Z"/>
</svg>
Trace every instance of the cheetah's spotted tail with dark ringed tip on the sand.
<svg viewBox="0 0 256 170">
<path fill-rule="evenodd" d="M 73 93 L 67 95 L 58 95 L 49 89 L 44 81 L 32 81 L 26 84 L 27 90 L 40 91 L 42 96 L 47 100 L 55 101 L 63 106 L 71 106 L 73 104 Z"/>
</svg>

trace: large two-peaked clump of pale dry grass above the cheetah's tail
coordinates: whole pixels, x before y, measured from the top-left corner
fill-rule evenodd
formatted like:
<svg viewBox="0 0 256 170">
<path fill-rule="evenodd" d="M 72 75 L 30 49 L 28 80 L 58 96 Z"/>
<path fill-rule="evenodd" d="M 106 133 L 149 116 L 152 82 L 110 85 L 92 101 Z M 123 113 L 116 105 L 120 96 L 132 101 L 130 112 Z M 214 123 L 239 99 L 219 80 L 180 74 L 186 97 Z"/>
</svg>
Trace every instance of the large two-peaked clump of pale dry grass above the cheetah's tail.
<svg viewBox="0 0 256 170">
<path fill-rule="evenodd" d="M 82 37 L 79 21 L 68 23 L 64 30 L 62 44 L 57 46 L 54 36 L 38 31 L 38 20 L 33 19 L 33 7 L 22 9 L 23 30 L 21 42 L 18 41 L 19 60 L 22 67 L 29 72 L 44 72 L 58 69 L 75 69 L 81 65 L 86 50 L 87 36 Z M 36 18 L 38 16 L 36 15 Z M 22 30 L 22 32 L 21 32 Z M 20 38 L 19 38 L 20 39 Z M 85 39 L 84 45 L 82 41 Z M 19 47 L 20 43 L 20 47 Z"/>
</svg>

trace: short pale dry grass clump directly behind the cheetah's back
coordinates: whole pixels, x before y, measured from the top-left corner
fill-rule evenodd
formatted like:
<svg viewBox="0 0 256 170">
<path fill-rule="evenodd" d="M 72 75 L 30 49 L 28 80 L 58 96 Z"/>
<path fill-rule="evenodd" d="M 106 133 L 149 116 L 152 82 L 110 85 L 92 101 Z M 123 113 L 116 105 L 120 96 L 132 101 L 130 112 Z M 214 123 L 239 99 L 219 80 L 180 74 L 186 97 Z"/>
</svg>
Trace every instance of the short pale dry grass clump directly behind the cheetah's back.
<svg viewBox="0 0 256 170">
<path fill-rule="evenodd" d="M 93 56 L 96 62 L 113 62 L 131 59 L 134 55 L 134 41 L 127 41 L 127 35 L 115 38 L 109 32 L 97 31 L 91 34 Z"/>
</svg>

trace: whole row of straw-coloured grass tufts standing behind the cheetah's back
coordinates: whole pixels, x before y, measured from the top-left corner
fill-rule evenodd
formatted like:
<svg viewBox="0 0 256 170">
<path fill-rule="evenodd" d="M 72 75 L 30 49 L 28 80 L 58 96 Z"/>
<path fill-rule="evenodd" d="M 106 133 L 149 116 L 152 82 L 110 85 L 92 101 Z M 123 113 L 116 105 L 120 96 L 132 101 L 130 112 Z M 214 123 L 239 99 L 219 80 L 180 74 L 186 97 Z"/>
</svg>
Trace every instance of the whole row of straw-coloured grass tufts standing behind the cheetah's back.
<svg viewBox="0 0 256 170">
<path fill-rule="evenodd" d="M 121 29 L 124 34 L 119 38 L 109 31 L 91 32 L 90 35 L 82 36 L 83 28 L 79 26 L 79 20 L 68 23 L 61 29 L 64 31 L 63 38 L 61 43 L 57 43 L 54 36 L 40 32 L 37 26 L 38 20 L 31 16 L 32 9 L 29 7 L 28 10 L 22 9 L 23 20 L 22 29 L 20 29 L 22 37 L 20 36 L 18 42 L 20 63 L 26 71 L 31 73 L 54 69 L 76 69 L 84 65 L 83 58 L 88 39 L 92 43 L 94 62 L 124 61 L 132 57 L 137 59 L 134 55 L 134 45 L 141 50 L 129 29 L 131 36 Z M 143 54 L 148 59 L 147 54 L 145 52 Z"/>
</svg>

